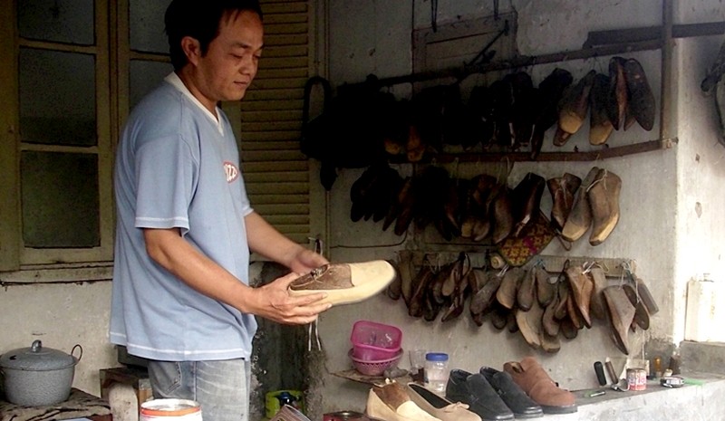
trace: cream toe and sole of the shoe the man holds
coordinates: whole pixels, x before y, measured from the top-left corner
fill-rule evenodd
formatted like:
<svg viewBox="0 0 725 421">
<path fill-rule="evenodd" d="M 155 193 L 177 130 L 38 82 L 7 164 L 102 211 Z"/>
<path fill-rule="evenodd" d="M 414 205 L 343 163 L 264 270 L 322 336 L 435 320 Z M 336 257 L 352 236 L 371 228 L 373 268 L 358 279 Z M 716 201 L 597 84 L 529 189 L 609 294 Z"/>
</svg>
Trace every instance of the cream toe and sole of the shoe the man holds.
<svg viewBox="0 0 725 421">
<path fill-rule="evenodd" d="M 329 290 L 294 290 L 290 295 L 301 296 L 324 292 L 327 296 L 320 303 L 333 305 L 353 304 L 369 299 L 378 292 L 382 292 L 396 276 L 395 268 L 384 260 L 375 260 L 364 263 L 343 263 L 350 268 L 351 288 Z M 294 283 L 294 282 L 293 282 Z"/>
</svg>

